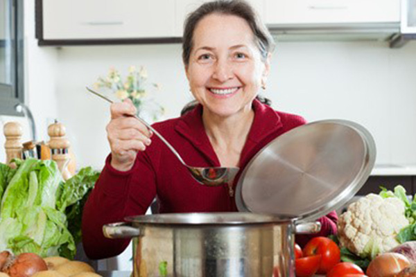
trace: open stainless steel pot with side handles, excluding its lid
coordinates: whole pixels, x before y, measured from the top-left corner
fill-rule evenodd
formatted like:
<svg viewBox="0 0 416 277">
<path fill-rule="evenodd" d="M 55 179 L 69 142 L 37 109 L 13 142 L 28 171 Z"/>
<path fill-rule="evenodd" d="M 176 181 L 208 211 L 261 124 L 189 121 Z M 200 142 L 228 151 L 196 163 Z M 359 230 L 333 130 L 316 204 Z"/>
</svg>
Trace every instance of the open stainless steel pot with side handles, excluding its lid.
<svg viewBox="0 0 416 277">
<path fill-rule="evenodd" d="M 142 215 L 103 226 L 107 238 L 133 238 L 135 277 L 294 277 L 294 234 L 315 233 L 318 222 L 295 224 L 254 213 Z"/>
</svg>

